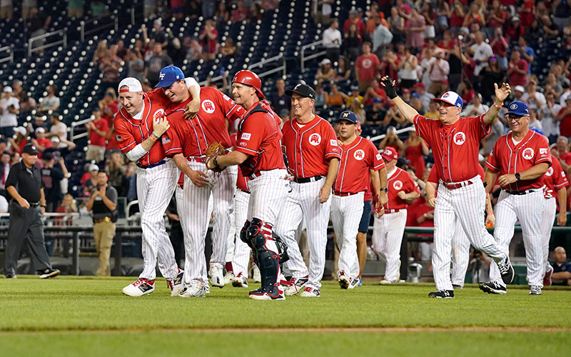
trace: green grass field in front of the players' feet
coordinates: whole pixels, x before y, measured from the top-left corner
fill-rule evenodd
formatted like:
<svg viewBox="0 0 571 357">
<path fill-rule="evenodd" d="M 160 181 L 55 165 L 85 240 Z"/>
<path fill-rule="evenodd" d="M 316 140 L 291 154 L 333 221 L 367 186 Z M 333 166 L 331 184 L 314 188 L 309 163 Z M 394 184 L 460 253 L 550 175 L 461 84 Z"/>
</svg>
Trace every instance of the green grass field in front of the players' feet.
<svg viewBox="0 0 571 357">
<path fill-rule="evenodd" d="M 570 350 L 571 290 L 561 288 L 529 296 L 527 286 L 510 286 L 492 296 L 467 286 L 441 300 L 428 298 L 433 284 L 342 291 L 325 282 L 317 299 L 251 301 L 247 289 L 232 286 L 206 298 L 171 298 L 163 279 L 151 295 L 123 296 L 132 280 L 0 280 L 0 356 L 245 356 L 292 345 L 323 356 Z"/>
</svg>

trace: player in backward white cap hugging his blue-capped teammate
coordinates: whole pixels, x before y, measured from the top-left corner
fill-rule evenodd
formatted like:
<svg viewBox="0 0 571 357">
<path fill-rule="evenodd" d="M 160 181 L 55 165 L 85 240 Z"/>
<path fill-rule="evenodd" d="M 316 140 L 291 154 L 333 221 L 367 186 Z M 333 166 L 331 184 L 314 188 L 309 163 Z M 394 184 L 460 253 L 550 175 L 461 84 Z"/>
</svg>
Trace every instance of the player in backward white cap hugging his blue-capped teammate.
<svg viewBox="0 0 571 357">
<path fill-rule="evenodd" d="M 186 92 L 200 98 L 200 88 L 193 79 L 184 85 Z M 178 170 L 166 159 L 161 136 L 169 127 L 164 109 L 169 101 L 162 91 L 143 93 L 141 82 L 132 77 L 119 83 L 119 100 L 123 106 L 113 125 L 116 140 L 123 154 L 137 164 L 137 198 L 143 231 L 143 271 L 138 280 L 123 288 L 129 296 L 152 293 L 156 263 L 167 279 L 171 296 L 182 291 L 183 273 L 178 269 L 173 246 L 165 230 L 163 214 L 171 201 Z M 196 102 L 193 103 L 196 108 Z M 158 143 L 156 141 L 159 141 Z"/>
</svg>

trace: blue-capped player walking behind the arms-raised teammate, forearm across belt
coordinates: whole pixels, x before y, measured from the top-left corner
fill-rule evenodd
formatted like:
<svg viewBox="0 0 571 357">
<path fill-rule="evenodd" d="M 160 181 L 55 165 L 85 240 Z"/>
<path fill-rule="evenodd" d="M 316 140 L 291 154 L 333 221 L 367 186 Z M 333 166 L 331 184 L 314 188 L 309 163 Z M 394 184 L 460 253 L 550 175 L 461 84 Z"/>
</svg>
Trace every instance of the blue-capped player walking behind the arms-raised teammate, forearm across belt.
<svg viewBox="0 0 571 357">
<path fill-rule="evenodd" d="M 506 253 L 510 249 L 514 225 L 522 226 L 527 283 L 530 295 L 541 295 L 545 263 L 542 254 L 541 221 L 545 209 L 542 175 L 551 166 L 549 144 L 545 136 L 529 130 L 529 109 L 522 101 L 514 101 L 505 114 L 511 133 L 500 136 L 486 161 L 484 185 L 490 192 L 496 178 L 502 192 L 495 206 L 497 245 Z M 497 177 L 499 175 L 499 177 Z M 487 293 L 505 294 L 505 281 L 496 263 L 490 265 L 490 281 L 480 283 Z"/>
</svg>

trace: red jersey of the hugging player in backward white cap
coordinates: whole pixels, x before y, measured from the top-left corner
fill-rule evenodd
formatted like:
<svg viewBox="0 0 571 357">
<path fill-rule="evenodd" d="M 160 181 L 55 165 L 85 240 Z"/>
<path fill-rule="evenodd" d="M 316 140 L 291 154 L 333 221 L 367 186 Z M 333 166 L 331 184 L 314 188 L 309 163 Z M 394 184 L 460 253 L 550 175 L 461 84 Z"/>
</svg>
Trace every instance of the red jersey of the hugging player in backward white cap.
<svg viewBox="0 0 571 357">
<path fill-rule="evenodd" d="M 165 115 L 165 108 L 168 107 L 171 101 L 163 94 L 162 89 L 156 89 L 143 95 L 143 103 L 145 105 L 143 110 L 136 115 L 138 119 L 133 118 L 123 107 L 113 120 L 115 139 L 123 154 L 133 150 L 137 144 L 141 144 L 151 136 L 154 121 Z M 141 159 L 138 159 L 138 163 L 142 166 L 149 166 L 162 161 L 164 158 L 165 150 L 163 145 L 160 142 L 156 142 L 151 146 L 151 150 L 148 153 L 143 155 Z"/>
</svg>

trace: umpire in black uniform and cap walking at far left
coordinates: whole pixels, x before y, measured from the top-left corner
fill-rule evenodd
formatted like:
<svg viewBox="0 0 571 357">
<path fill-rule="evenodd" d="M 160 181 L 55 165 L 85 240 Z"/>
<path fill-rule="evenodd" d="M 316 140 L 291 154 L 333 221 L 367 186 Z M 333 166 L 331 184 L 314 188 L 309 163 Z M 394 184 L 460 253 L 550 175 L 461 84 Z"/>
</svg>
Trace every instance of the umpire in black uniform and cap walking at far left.
<svg viewBox="0 0 571 357">
<path fill-rule="evenodd" d="M 41 173 L 36 165 L 39 151 L 34 144 L 22 149 L 22 160 L 11 167 L 6 178 L 6 191 L 12 196 L 10 205 L 10 226 L 4 257 L 4 277 L 16 278 L 16 266 L 24 241 L 28 241 L 31 263 L 40 278 L 59 275 L 51 268 L 44 242 L 44 221 L 46 211 L 44 188 L 41 187 Z"/>
</svg>

